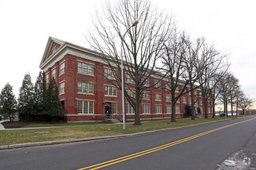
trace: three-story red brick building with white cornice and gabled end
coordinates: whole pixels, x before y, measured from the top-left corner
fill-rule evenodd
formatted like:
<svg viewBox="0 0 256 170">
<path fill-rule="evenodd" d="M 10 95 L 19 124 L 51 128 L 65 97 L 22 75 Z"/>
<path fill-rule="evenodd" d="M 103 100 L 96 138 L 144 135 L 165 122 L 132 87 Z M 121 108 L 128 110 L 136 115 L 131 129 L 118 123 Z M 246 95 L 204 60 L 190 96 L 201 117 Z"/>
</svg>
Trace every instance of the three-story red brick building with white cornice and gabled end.
<svg viewBox="0 0 256 170">
<path fill-rule="evenodd" d="M 50 78 L 57 81 L 62 114 L 68 122 L 105 121 L 109 115 L 119 118 L 122 114 L 121 90 L 103 78 L 102 74 L 111 76 L 111 73 L 95 51 L 50 37 L 40 68 L 45 73 L 46 85 Z M 154 81 L 150 78 L 150 85 Z M 180 97 L 176 103 L 177 118 L 183 117 L 184 106 L 190 102 L 189 94 Z M 195 107 L 202 110 L 202 99 L 198 99 Z M 212 113 L 212 107 L 208 110 Z M 125 113 L 127 120 L 134 119 L 128 101 L 125 101 Z M 139 113 L 141 120 L 171 118 L 170 92 L 165 89 L 144 92 Z"/>
</svg>

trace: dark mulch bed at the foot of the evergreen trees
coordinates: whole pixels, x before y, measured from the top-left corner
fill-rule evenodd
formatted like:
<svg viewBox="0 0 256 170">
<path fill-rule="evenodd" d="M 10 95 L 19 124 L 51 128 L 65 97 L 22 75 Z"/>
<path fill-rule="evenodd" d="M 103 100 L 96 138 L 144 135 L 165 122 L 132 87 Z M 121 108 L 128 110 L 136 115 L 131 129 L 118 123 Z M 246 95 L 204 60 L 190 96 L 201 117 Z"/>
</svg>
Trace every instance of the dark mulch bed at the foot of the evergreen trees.
<svg viewBox="0 0 256 170">
<path fill-rule="evenodd" d="M 65 123 L 65 121 L 5 121 L 2 122 L 2 125 L 5 128 L 22 128 L 25 125 L 31 125 L 31 124 L 49 124 L 49 125 L 56 125 L 56 124 L 62 124 Z"/>
</svg>

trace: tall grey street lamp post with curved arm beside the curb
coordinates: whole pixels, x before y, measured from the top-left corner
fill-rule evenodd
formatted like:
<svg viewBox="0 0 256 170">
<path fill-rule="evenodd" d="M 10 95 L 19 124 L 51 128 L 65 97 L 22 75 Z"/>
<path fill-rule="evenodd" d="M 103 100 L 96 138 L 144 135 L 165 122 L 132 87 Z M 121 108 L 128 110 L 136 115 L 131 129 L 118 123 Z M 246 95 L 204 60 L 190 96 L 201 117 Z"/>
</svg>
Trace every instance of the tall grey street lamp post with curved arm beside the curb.
<svg viewBox="0 0 256 170">
<path fill-rule="evenodd" d="M 135 20 L 131 27 L 128 27 L 127 31 L 121 37 L 121 50 L 123 49 L 123 41 L 125 34 L 139 23 L 139 20 Z M 121 52 L 122 54 L 122 52 Z M 123 130 L 125 130 L 125 112 L 124 112 L 124 61 L 123 55 L 121 55 L 121 78 L 122 78 L 122 111 L 123 111 Z"/>
</svg>

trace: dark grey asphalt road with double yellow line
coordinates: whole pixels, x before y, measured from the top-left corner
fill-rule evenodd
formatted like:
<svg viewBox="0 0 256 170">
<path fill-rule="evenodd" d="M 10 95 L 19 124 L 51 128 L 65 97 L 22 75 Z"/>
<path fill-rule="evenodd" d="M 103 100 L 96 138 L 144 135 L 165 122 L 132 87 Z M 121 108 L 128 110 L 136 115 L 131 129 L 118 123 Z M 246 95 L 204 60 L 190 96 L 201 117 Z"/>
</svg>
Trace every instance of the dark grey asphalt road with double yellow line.
<svg viewBox="0 0 256 170">
<path fill-rule="evenodd" d="M 0 169 L 210 170 L 239 150 L 255 158 L 255 134 L 256 117 L 246 117 L 120 139 L 0 150 Z"/>
</svg>

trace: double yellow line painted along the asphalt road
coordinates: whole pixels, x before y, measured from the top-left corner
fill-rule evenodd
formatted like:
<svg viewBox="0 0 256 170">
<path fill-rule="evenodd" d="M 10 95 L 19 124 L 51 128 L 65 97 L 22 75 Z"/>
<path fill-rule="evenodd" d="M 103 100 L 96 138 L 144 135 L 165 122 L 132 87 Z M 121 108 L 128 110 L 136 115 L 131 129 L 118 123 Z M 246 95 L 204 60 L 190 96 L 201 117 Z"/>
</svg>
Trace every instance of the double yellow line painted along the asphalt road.
<svg viewBox="0 0 256 170">
<path fill-rule="evenodd" d="M 255 118 L 248 119 L 247 121 L 251 121 L 253 119 L 255 119 Z M 216 131 L 221 130 L 223 128 L 228 128 L 228 127 L 231 127 L 233 125 L 239 125 L 239 124 L 247 122 L 247 121 L 240 121 L 240 122 L 237 122 L 237 123 L 234 123 L 234 124 L 231 124 L 231 125 L 222 126 L 220 128 L 214 128 L 210 131 L 198 133 L 195 136 L 189 136 L 187 138 L 177 140 L 173 143 L 167 143 L 165 145 L 157 146 L 157 147 L 151 148 L 149 150 L 143 150 L 143 151 L 135 153 L 135 154 L 129 154 L 129 155 L 124 156 L 124 157 L 119 157 L 117 159 L 113 159 L 113 160 L 110 160 L 110 161 L 105 161 L 105 162 L 102 162 L 102 163 L 97 164 L 97 165 L 91 165 L 91 166 L 87 166 L 85 168 L 80 168 L 80 169 L 77 169 L 77 170 L 83 170 L 83 169 L 95 170 L 95 169 L 98 169 L 98 168 L 104 168 L 106 166 L 114 165 L 114 164 L 117 164 L 117 163 L 122 162 L 122 161 L 128 161 L 128 160 L 133 159 L 135 157 L 140 157 L 140 156 L 143 156 L 145 154 L 150 154 L 150 153 L 156 152 L 158 150 L 163 150 L 163 149 L 168 148 L 170 146 L 174 146 L 174 145 L 177 145 L 177 144 L 180 144 L 180 143 L 184 143 L 184 142 L 187 142 L 188 140 L 195 139 L 195 138 L 198 138 L 200 136 L 205 136 L 209 133 L 216 132 Z"/>
</svg>

